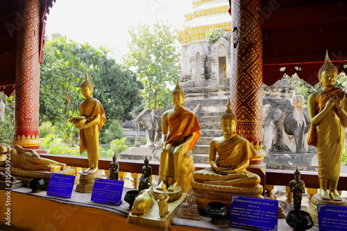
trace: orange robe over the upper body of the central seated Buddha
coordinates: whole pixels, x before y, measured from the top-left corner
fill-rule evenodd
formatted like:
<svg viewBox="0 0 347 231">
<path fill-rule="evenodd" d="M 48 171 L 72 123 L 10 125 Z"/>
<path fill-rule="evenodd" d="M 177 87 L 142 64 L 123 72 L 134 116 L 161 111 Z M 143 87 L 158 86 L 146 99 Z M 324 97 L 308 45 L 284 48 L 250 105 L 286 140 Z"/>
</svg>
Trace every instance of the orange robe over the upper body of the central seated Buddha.
<svg viewBox="0 0 347 231">
<path fill-rule="evenodd" d="M 194 132 L 194 137 L 188 144 L 188 148 L 192 150 L 200 137 L 201 126 L 195 114 L 183 107 L 180 107 L 168 121 L 169 132 L 166 139 L 166 144 L 178 146 L 183 144 L 189 135 Z"/>
</svg>

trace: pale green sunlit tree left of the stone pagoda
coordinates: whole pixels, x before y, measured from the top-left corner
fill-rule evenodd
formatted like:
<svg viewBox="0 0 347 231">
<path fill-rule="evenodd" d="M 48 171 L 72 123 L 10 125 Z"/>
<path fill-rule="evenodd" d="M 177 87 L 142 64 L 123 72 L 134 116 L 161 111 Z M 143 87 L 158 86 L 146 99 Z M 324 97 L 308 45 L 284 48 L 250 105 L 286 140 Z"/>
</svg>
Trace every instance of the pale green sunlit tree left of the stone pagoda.
<svg viewBox="0 0 347 231">
<path fill-rule="evenodd" d="M 136 69 L 144 85 L 142 95 L 146 106 L 153 110 L 166 107 L 171 97 L 169 85 L 179 78 L 179 52 L 175 44 L 174 30 L 162 22 L 153 26 L 138 24 L 129 28 L 131 42 L 129 53 L 123 61 Z"/>
</svg>

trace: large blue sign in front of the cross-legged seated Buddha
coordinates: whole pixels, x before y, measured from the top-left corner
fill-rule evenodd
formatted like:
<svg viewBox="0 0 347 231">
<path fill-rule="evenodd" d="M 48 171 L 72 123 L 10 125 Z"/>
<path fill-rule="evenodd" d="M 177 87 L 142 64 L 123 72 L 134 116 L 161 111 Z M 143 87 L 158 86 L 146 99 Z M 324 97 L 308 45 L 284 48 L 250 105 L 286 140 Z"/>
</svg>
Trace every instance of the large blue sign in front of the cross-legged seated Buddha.
<svg viewBox="0 0 347 231">
<path fill-rule="evenodd" d="M 252 230 L 277 230 L 278 201 L 233 195 L 229 225 Z"/>
</svg>

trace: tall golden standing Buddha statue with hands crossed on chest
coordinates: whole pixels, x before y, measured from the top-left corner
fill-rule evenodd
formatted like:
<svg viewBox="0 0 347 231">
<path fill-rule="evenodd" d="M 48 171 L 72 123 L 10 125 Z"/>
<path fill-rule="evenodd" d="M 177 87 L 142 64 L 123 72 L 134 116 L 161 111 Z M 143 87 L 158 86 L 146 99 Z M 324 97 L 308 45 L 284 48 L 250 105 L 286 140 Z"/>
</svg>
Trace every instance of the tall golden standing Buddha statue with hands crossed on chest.
<svg viewBox="0 0 347 231">
<path fill-rule="evenodd" d="M 346 93 L 334 86 L 337 67 L 330 62 L 328 51 L 318 78 L 323 88 L 308 97 L 311 128 L 307 143 L 317 148 L 321 198 L 342 200 L 337 192 L 337 182 L 347 128 L 347 99 Z"/>
</svg>

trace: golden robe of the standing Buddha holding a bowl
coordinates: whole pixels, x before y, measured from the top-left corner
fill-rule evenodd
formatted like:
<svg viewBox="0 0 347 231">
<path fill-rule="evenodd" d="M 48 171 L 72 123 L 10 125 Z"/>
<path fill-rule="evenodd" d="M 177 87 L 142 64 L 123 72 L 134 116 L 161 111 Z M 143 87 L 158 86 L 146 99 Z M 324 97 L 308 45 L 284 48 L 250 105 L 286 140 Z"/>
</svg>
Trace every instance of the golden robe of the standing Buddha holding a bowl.
<svg viewBox="0 0 347 231">
<path fill-rule="evenodd" d="M 87 150 L 88 160 L 99 160 L 99 133 L 106 121 L 105 110 L 101 103 L 92 97 L 85 99 L 80 105 L 80 115 L 90 121 L 93 117 L 100 114 L 99 124 L 90 126 L 89 128 L 80 129 L 80 153 Z"/>
</svg>

